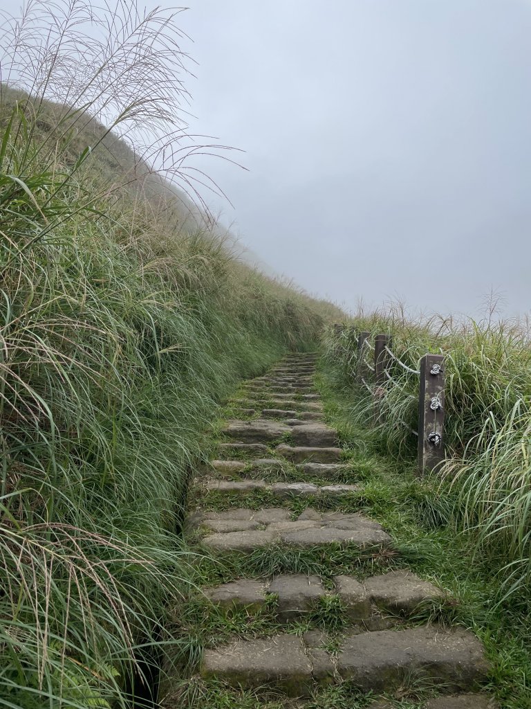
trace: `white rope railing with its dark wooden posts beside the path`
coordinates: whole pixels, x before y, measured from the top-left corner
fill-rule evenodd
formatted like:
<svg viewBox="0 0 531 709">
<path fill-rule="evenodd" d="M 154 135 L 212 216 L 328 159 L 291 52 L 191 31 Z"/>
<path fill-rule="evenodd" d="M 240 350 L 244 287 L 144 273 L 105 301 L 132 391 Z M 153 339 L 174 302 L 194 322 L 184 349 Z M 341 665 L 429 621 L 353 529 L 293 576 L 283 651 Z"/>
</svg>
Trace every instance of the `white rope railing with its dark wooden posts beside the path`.
<svg viewBox="0 0 531 709">
<path fill-rule="evenodd" d="M 420 369 L 413 369 L 393 352 L 389 335 L 375 335 L 374 347 L 370 333 L 358 333 L 358 356 L 356 358 L 355 379 L 370 393 L 375 408 L 375 420 L 382 423 L 385 408 L 382 401 L 388 389 L 387 382 L 401 384 L 392 376 L 392 368 L 397 364 L 409 374 L 419 378 L 418 386 L 418 430 L 411 428 L 401 418 L 394 420 L 404 426 L 418 439 L 418 467 L 421 472 L 433 469 L 442 462 L 444 453 L 444 394 L 445 374 L 442 354 L 425 354 L 420 360 Z M 374 350 L 374 365 L 367 362 L 367 352 Z M 369 380 L 369 381 L 367 381 Z M 370 381 L 373 380 L 373 381 Z"/>
</svg>

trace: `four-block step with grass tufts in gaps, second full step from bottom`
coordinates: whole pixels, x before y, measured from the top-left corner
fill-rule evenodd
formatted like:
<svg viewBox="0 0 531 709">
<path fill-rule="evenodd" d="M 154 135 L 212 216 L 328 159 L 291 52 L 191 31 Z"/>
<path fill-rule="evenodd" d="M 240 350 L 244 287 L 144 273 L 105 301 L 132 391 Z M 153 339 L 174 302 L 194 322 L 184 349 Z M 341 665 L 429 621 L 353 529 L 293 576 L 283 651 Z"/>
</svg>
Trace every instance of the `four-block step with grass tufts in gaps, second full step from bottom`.
<svg viewBox="0 0 531 709">
<path fill-rule="evenodd" d="M 216 520 L 216 522 L 219 529 L 219 526 L 227 520 Z M 252 524 L 251 521 L 246 520 L 239 520 L 239 523 Z M 276 615 L 283 623 L 307 615 L 320 598 L 337 596 L 351 623 L 360 625 L 365 630 L 382 630 L 383 619 L 379 615 L 380 611 L 403 610 L 404 615 L 412 615 L 420 603 L 434 603 L 445 598 L 445 593 L 429 581 L 419 579 L 411 571 L 406 571 L 405 574 L 411 579 L 402 576 L 402 585 L 394 584 L 392 593 L 387 595 L 384 605 L 381 603 L 380 596 L 375 596 L 371 589 L 375 582 L 378 583 L 389 574 L 371 576 L 363 581 L 358 581 L 354 576 L 334 576 L 332 579 L 334 588 L 331 591 L 324 588 L 319 576 L 280 574 L 273 581 L 242 579 L 230 584 L 222 584 L 205 591 L 205 596 L 224 610 L 245 609 L 253 613 L 263 606 L 267 593 L 274 593 L 278 597 Z M 389 625 L 393 625 L 390 618 Z"/>
</svg>

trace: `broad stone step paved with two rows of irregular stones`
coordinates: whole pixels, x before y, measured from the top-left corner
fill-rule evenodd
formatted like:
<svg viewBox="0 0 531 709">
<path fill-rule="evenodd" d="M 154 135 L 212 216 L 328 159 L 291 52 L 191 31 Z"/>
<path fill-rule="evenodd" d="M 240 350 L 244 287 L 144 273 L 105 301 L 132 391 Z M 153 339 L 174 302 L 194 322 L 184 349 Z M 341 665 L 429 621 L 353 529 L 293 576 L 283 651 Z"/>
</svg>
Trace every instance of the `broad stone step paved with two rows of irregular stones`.
<svg viewBox="0 0 531 709">
<path fill-rule="evenodd" d="M 218 552 L 252 552 L 272 544 L 302 549 L 329 544 L 366 549 L 391 543 L 391 537 L 381 525 L 360 513 L 317 513 L 313 510 L 312 518 L 302 513 L 297 520 L 292 520 L 290 510 L 282 508 L 233 508 L 224 512 L 196 513 L 192 522 L 215 532 L 204 537 L 202 544 Z M 219 522 L 224 523 L 222 529 L 217 524 Z M 246 527 L 242 530 L 242 522 L 258 523 L 264 528 Z"/>
</svg>

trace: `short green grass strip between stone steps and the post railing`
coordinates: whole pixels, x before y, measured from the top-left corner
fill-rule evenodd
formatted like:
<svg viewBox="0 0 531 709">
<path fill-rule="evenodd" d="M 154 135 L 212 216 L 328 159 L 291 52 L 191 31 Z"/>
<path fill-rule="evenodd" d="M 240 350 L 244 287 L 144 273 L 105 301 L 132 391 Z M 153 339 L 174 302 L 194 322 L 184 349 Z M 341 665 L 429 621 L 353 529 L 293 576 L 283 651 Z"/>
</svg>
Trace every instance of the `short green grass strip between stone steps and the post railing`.
<svg viewBox="0 0 531 709">
<path fill-rule="evenodd" d="M 503 577 L 493 572 L 492 558 L 479 552 L 474 537 L 455 527 L 459 493 L 440 488 L 440 477 L 419 479 L 413 459 L 390 457 L 382 448 L 372 419 L 353 416 L 363 394 L 343 389 L 337 369 L 321 369 L 318 386 L 329 422 L 350 449 L 374 465 L 365 479 L 372 515 L 394 538 L 398 554 L 386 559 L 392 568 L 412 569 L 446 589 L 452 601 L 440 608 L 419 609 L 413 622 L 437 620 L 472 629 L 484 642 L 492 663 L 490 688 L 504 709 L 531 706 L 530 607 L 525 598 L 506 598 Z M 351 388 L 350 388 L 351 389 Z M 355 423 L 353 423 L 355 422 Z M 367 562 L 370 565 L 370 561 Z M 340 704 L 341 705 L 341 704 Z"/>
</svg>

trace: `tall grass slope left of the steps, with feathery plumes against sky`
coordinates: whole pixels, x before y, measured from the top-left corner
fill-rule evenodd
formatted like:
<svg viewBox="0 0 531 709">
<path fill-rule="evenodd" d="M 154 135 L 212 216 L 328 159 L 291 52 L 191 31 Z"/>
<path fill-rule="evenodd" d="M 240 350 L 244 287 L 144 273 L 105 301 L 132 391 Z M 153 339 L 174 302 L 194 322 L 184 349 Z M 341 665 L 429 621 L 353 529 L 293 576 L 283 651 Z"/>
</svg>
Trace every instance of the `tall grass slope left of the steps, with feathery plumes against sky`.
<svg viewBox="0 0 531 709">
<path fill-rule="evenodd" d="M 0 705 L 125 706 L 186 583 L 205 430 L 337 311 L 185 230 L 183 199 L 118 140 L 170 136 L 164 173 L 195 189 L 173 14 L 34 2 L 4 26 Z"/>
</svg>

